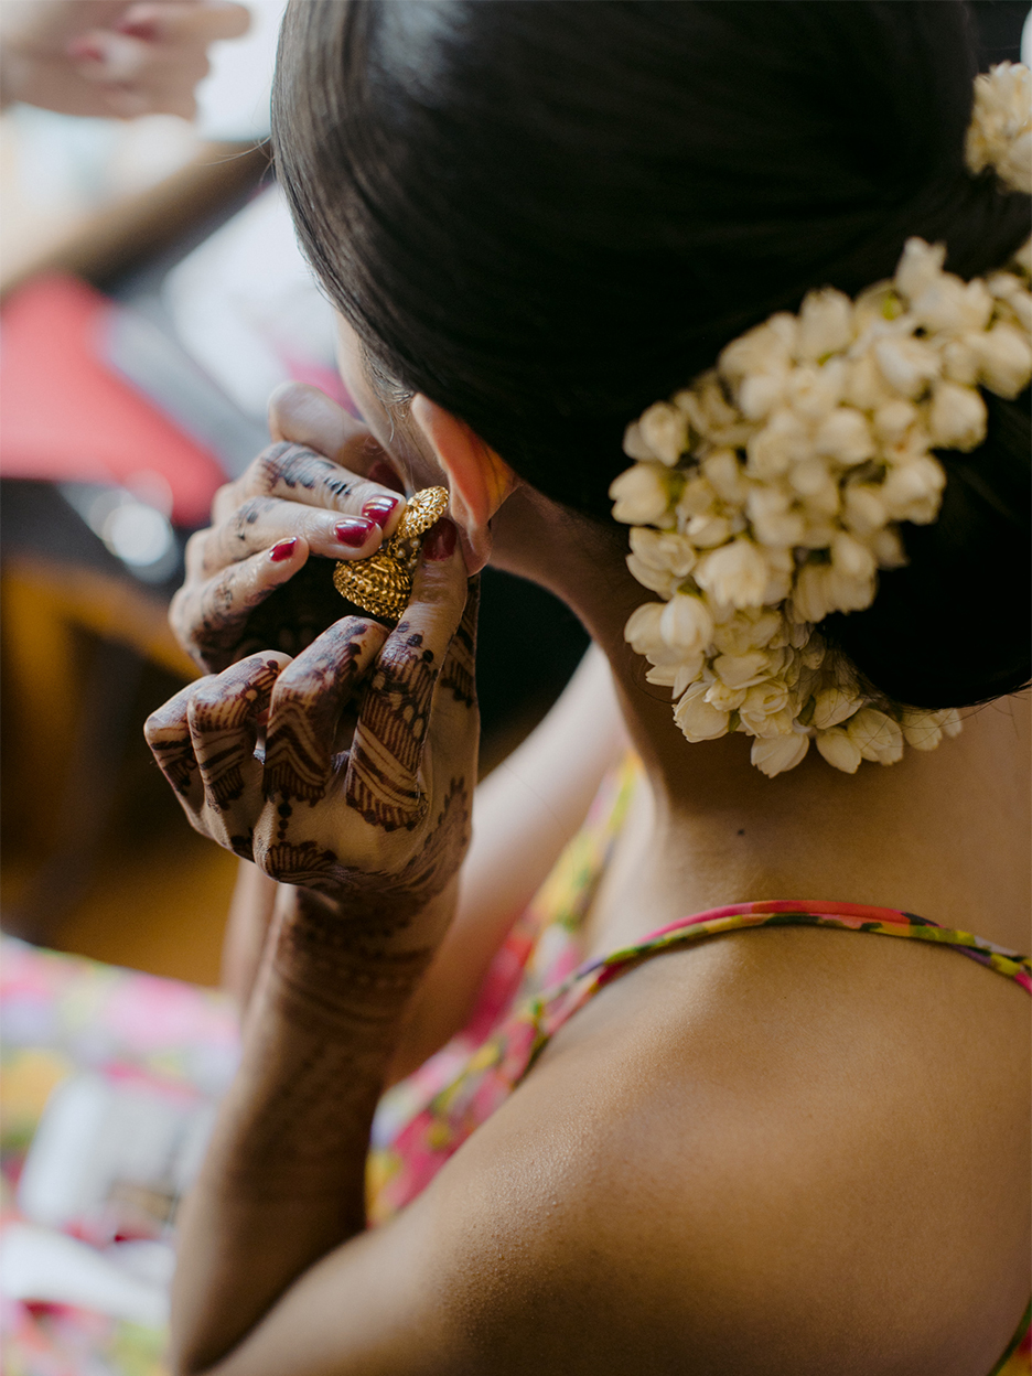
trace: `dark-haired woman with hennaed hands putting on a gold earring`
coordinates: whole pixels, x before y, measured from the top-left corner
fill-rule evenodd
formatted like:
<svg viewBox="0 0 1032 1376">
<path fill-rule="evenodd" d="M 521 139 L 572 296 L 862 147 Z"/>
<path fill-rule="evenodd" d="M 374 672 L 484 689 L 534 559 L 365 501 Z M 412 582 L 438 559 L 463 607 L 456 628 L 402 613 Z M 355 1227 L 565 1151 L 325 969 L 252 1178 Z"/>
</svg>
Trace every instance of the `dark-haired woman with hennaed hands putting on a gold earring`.
<svg viewBox="0 0 1032 1376">
<path fill-rule="evenodd" d="M 988 116 L 965 151 L 966 22 L 288 11 L 278 166 L 369 429 L 278 399 L 279 443 L 220 494 L 175 608 L 209 677 L 149 722 L 193 823 L 261 871 L 235 904 L 244 1061 L 182 1222 L 176 1370 L 1009 1357 L 1029 670 L 1007 396 L 1032 352 L 1025 270 L 992 296 L 930 246 L 996 272 L 1028 197 Z M 929 323 L 947 299 L 966 334 Z M 361 599 L 354 560 L 407 528 L 395 475 L 450 494 L 400 622 L 350 615 L 290 658 L 285 589 L 327 588 L 329 556 Z M 466 854 L 488 559 L 597 648 L 477 791 Z M 513 927 L 625 732 L 640 772 Z M 424 1062 L 377 1117 L 366 1230 L 374 1109 Z"/>
</svg>

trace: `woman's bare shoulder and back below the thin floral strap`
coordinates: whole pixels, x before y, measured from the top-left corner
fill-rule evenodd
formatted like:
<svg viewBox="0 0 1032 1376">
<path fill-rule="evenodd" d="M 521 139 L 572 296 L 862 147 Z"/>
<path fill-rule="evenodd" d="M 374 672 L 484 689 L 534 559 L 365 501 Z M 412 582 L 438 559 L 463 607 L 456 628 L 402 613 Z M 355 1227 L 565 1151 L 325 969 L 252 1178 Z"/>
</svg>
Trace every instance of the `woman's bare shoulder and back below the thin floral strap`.
<svg viewBox="0 0 1032 1376">
<path fill-rule="evenodd" d="M 985 1376 L 1029 1293 L 1028 1003 L 824 932 L 610 985 L 421 1201 L 461 1210 L 471 1370 Z"/>
</svg>

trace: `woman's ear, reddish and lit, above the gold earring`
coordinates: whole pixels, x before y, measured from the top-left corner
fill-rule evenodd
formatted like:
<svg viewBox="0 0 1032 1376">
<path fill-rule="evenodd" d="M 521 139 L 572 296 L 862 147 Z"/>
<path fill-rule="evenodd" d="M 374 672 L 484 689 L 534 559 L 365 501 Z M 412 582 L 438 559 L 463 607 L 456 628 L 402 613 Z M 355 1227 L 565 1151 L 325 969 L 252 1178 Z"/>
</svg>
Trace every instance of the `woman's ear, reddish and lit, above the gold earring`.
<svg viewBox="0 0 1032 1376">
<path fill-rule="evenodd" d="M 480 436 L 428 396 L 414 396 L 410 416 L 449 475 L 451 516 L 471 574 L 491 557 L 490 522 L 519 479 Z"/>
</svg>

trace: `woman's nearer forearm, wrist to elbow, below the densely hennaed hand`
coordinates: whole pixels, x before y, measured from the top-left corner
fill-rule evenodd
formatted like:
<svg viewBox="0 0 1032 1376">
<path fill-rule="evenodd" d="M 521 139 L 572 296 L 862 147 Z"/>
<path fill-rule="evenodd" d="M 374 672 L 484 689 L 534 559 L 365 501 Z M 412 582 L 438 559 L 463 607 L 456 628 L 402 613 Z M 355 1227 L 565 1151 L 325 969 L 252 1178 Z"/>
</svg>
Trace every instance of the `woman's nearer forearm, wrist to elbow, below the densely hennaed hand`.
<svg viewBox="0 0 1032 1376">
<path fill-rule="evenodd" d="M 305 890 L 279 905 L 242 1065 L 183 1210 L 176 1372 L 208 1369 L 308 1266 L 365 1227 L 373 1112 L 450 911 L 447 894 L 411 921 L 348 916 Z"/>
</svg>

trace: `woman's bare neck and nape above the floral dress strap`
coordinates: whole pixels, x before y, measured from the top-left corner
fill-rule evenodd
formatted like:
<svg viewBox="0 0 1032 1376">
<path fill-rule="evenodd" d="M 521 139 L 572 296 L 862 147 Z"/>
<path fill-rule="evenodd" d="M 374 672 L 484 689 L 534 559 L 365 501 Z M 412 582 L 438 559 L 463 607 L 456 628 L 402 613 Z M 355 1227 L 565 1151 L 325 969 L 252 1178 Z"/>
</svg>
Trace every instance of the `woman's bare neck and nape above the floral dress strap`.
<svg viewBox="0 0 1032 1376">
<path fill-rule="evenodd" d="M 599 944 L 692 911 L 762 899 L 901 908 L 1028 949 L 1029 703 L 966 714 L 938 750 L 842 775 L 816 751 L 766 779 L 742 735 L 688 744 L 670 691 L 645 681 L 623 640 L 648 593 L 625 564 L 622 531 L 522 490 L 495 520 L 501 567 L 570 605 L 610 660 L 647 787 L 600 896 Z M 644 916 L 643 916 L 644 914 Z M 640 929 L 640 930 L 638 930 Z"/>
</svg>

